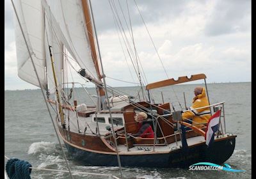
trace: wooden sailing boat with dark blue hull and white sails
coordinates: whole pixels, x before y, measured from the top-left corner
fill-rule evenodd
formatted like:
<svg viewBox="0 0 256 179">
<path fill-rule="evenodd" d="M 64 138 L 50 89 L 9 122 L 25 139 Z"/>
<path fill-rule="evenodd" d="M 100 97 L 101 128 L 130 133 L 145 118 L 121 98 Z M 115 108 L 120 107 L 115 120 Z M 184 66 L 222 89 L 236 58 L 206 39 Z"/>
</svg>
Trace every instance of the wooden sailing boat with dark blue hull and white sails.
<svg viewBox="0 0 256 179">
<path fill-rule="evenodd" d="M 205 144 L 205 127 L 180 119 L 182 112 L 191 109 L 174 111 L 170 102 L 154 102 L 152 89 L 196 80 L 204 80 L 208 95 L 205 74 L 146 86 L 140 81 L 137 97 L 131 97 L 106 85 L 90 1 L 19 0 L 15 8 L 18 75 L 44 90 L 56 112 L 58 133 L 79 162 L 92 166 L 188 167 L 196 162 L 222 164 L 232 155 L 236 135 L 226 132 L 224 102 L 205 106 L 211 113 L 221 109 L 220 127 L 211 146 Z M 67 85 L 70 61 L 77 63 L 75 70 L 85 81 L 95 85 L 95 104 L 77 104 L 74 99 L 76 82 L 71 82 L 72 88 Z M 109 91 L 115 95 L 108 97 Z M 147 113 L 154 138 L 132 135 L 138 128 L 134 116 L 141 111 Z M 180 124 L 189 130 L 182 132 Z"/>
</svg>

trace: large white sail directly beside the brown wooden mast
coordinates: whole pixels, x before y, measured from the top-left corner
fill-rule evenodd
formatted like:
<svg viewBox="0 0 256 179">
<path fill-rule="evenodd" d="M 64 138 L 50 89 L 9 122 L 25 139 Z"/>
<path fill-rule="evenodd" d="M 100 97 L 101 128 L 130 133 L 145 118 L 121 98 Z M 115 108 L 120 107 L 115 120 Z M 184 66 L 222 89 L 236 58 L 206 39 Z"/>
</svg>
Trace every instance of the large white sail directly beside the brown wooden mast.
<svg viewBox="0 0 256 179">
<path fill-rule="evenodd" d="M 51 13 L 67 40 L 70 47 L 68 51 L 81 68 L 85 68 L 86 72 L 97 79 L 97 72 L 88 43 L 81 0 L 47 1 L 47 4 L 49 4 Z"/>
</svg>

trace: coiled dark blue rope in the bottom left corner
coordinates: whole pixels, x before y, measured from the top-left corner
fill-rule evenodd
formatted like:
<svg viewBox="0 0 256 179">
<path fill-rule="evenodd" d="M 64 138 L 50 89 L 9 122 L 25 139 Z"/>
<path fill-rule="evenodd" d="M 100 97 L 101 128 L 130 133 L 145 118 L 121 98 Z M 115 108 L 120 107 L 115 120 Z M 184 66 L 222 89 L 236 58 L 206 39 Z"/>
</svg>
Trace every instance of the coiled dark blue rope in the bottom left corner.
<svg viewBox="0 0 256 179">
<path fill-rule="evenodd" d="M 19 159 L 9 159 L 6 163 L 6 173 L 10 179 L 30 179 L 31 164 Z"/>
</svg>

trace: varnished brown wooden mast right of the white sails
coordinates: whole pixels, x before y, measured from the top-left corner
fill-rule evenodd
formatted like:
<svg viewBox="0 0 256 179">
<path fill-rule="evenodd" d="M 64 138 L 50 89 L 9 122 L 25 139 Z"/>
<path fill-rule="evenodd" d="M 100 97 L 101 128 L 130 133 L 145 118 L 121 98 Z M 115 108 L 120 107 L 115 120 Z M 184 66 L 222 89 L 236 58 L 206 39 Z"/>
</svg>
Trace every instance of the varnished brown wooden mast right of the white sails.
<svg viewBox="0 0 256 179">
<path fill-rule="evenodd" d="M 92 52 L 93 63 L 95 65 L 98 79 L 99 79 L 99 81 L 101 81 L 102 75 L 100 75 L 99 62 L 97 59 L 97 51 L 96 51 L 94 37 L 93 37 L 92 20 L 90 17 L 90 10 L 89 10 L 88 3 L 86 0 L 82 0 L 82 6 L 83 6 L 84 19 L 85 19 L 85 26 L 86 26 L 86 29 L 88 32 L 88 38 L 89 38 L 89 43 L 90 43 L 91 52 Z M 100 108 L 102 108 L 102 107 L 104 107 L 104 101 L 106 98 L 105 91 L 103 88 L 98 86 L 97 92 L 98 92 L 98 95 L 100 95 L 100 102 L 98 102 L 98 106 L 99 107 L 101 106 Z"/>
</svg>

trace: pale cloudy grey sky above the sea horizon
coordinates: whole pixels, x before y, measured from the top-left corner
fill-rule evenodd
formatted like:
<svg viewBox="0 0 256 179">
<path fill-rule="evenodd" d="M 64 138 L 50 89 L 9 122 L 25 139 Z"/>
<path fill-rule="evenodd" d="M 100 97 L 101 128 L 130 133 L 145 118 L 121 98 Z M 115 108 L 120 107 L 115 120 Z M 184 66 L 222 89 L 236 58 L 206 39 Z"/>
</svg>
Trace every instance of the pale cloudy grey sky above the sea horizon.
<svg viewBox="0 0 256 179">
<path fill-rule="evenodd" d="M 111 1 L 92 0 L 106 82 L 110 86 L 132 86 L 134 84 L 122 82 L 138 82 L 138 79 L 129 56 L 124 55 L 127 51 L 124 44 L 120 45 L 120 32 L 109 5 Z M 138 12 L 136 4 L 130 0 L 127 1 L 129 15 L 126 1 L 115 1 L 120 13 L 118 2 L 128 24 L 130 15 L 145 84 L 202 73 L 207 76 L 207 82 L 252 80 L 251 1 L 136 0 Z M 125 20 L 120 18 L 128 35 Z M 4 37 L 4 89 L 38 88 L 17 75 L 13 7 L 9 0 L 4 0 Z"/>
</svg>

